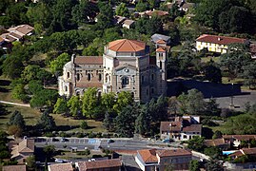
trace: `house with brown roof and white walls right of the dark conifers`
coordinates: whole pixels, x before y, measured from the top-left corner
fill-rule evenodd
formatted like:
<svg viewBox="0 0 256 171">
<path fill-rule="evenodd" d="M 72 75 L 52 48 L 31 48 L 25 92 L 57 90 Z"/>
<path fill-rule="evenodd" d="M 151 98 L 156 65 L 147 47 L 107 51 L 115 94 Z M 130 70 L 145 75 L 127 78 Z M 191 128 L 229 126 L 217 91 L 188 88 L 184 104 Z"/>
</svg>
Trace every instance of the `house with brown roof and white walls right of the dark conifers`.
<svg viewBox="0 0 256 171">
<path fill-rule="evenodd" d="M 187 141 L 202 135 L 202 124 L 194 123 L 193 117 L 175 117 L 174 121 L 161 122 L 160 137 L 165 140 Z"/>
</svg>

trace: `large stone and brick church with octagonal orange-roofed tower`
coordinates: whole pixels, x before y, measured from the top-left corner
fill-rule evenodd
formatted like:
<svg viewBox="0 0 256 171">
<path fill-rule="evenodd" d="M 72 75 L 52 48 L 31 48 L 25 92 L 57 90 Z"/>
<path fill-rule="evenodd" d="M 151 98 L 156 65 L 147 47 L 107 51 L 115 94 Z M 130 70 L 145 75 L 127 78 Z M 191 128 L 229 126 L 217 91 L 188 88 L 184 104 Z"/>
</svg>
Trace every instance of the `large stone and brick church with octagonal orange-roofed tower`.
<svg viewBox="0 0 256 171">
<path fill-rule="evenodd" d="M 128 91 L 137 102 L 166 95 L 167 51 L 149 52 L 144 42 L 121 39 L 108 43 L 103 56 L 73 55 L 58 78 L 59 94 L 83 95 L 97 87 L 99 95 Z"/>
</svg>

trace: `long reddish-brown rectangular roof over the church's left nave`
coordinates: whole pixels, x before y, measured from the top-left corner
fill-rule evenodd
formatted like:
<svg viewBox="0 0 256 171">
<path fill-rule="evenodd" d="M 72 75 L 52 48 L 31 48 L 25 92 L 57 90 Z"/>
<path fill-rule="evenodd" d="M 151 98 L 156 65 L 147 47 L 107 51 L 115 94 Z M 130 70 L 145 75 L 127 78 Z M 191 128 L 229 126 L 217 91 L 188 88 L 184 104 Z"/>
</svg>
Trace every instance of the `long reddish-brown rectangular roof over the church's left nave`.
<svg viewBox="0 0 256 171">
<path fill-rule="evenodd" d="M 77 56 L 74 58 L 76 65 L 103 65 L 102 56 Z"/>
</svg>

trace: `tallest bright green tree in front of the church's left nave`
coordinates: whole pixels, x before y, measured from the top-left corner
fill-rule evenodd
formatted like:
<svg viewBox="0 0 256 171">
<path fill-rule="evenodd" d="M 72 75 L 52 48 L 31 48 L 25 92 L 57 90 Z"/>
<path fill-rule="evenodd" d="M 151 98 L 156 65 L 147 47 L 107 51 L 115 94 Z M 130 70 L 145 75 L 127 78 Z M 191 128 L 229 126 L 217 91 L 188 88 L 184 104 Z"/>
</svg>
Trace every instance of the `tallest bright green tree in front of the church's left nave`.
<svg viewBox="0 0 256 171">
<path fill-rule="evenodd" d="M 88 88 L 83 96 L 82 100 L 82 111 L 83 115 L 89 119 L 99 119 L 104 116 L 101 115 L 102 111 L 100 108 L 100 100 L 97 96 L 98 91 L 97 88 Z"/>
</svg>

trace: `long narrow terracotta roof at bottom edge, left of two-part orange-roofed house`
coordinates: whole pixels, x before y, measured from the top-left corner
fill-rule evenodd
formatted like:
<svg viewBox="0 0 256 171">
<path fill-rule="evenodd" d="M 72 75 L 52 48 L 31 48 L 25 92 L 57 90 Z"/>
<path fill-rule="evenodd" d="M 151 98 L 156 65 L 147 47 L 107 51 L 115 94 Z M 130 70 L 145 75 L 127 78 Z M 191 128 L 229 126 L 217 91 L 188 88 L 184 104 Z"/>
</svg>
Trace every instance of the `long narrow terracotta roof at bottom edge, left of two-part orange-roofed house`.
<svg viewBox="0 0 256 171">
<path fill-rule="evenodd" d="M 86 171 L 88 169 L 100 169 L 121 167 L 122 162 L 119 159 L 105 160 L 105 161 L 79 161 L 78 167 L 80 171 Z"/>
</svg>

